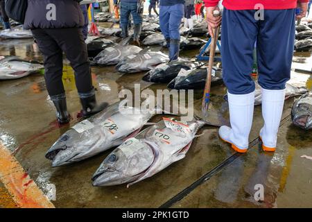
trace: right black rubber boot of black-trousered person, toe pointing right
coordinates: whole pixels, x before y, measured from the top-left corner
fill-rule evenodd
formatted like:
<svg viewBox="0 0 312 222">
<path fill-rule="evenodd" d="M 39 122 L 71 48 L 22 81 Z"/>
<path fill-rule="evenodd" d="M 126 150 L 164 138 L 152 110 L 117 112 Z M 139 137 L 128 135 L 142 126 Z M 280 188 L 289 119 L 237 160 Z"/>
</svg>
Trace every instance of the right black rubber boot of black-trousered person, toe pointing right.
<svg viewBox="0 0 312 222">
<path fill-rule="evenodd" d="M 79 94 L 79 96 L 80 103 L 83 106 L 83 117 L 90 117 L 98 112 L 101 112 L 102 110 L 105 110 L 108 106 L 108 103 L 101 103 L 99 105 L 96 103 L 94 89 L 92 89 L 92 92 L 88 94 Z"/>
</svg>

